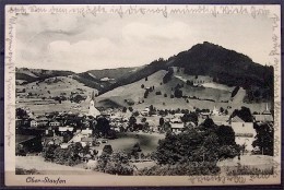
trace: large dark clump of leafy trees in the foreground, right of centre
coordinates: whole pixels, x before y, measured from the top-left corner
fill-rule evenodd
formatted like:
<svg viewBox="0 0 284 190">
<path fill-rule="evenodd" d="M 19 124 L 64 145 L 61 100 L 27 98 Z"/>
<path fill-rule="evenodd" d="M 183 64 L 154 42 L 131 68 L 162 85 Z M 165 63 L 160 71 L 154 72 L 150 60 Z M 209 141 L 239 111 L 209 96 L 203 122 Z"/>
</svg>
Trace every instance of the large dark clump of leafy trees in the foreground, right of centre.
<svg viewBox="0 0 284 190">
<path fill-rule="evenodd" d="M 167 133 L 155 152 L 157 165 L 139 170 L 138 175 L 214 175 L 220 171 L 217 161 L 233 158 L 239 152 L 234 130 L 216 127 L 212 119 L 206 119 L 184 133 Z"/>
</svg>

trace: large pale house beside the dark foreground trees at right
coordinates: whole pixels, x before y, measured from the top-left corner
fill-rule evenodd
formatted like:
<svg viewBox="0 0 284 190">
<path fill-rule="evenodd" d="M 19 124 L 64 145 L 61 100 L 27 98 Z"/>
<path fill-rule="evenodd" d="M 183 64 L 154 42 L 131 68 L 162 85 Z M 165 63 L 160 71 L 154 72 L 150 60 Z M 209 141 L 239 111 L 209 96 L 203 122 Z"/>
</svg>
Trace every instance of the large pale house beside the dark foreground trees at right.
<svg viewBox="0 0 284 190">
<path fill-rule="evenodd" d="M 245 122 L 238 116 L 230 119 L 230 127 L 235 132 L 235 141 L 239 145 L 245 145 L 247 151 L 252 151 L 252 142 L 257 135 L 253 129 L 253 122 Z"/>
</svg>

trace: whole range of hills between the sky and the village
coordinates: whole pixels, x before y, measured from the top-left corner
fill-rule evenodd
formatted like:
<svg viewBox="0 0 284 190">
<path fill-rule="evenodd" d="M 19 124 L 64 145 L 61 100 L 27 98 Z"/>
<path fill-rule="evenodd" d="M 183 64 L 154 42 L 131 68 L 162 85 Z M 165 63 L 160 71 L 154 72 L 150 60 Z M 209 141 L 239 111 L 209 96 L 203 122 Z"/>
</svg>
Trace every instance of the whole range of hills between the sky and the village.
<svg viewBox="0 0 284 190">
<path fill-rule="evenodd" d="M 46 91 L 48 85 L 57 85 L 52 84 L 55 82 L 47 84 L 47 81 L 59 76 L 66 83 L 57 86 L 57 90 L 51 87 L 54 92 L 70 93 L 68 88 L 71 86 L 64 85 L 68 83 L 75 88 L 87 87 L 86 92 L 98 92 L 98 105 L 107 107 L 134 105 L 143 108 L 157 105 L 167 108 L 212 108 L 216 104 L 234 107 L 270 102 L 274 91 L 273 67 L 261 66 L 246 55 L 206 41 L 167 60 L 159 58 L 139 68 L 90 70 L 82 73 L 16 69 L 17 87 L 22 88 L 36 84 L 38 91 Z M 235 87 L 238 91 L 233 95 Z M 176 98 L 176 91 L 182 92 L 179 95 L 181 98 Z"/>
</svg>

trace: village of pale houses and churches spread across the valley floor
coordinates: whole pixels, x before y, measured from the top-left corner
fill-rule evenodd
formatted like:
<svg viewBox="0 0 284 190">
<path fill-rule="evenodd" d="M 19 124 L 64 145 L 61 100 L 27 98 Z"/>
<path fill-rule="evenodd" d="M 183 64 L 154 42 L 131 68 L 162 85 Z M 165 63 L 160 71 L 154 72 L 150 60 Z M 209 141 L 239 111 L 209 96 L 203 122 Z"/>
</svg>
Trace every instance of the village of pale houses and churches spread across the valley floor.
<svg viewBox="0 0 284 190">
<path fill-rule="evenodd" d="M 85 163 L 85 168 L 94 168 L 96 161 L 107 149 L 128 151 L 128 157 L 132 163 L 153 162 L 152 152 L 166 133 L 179 134 L 190 128 L 197 128 L 209 119 L 216 126 L 232 127 L 236 143 L 242 147 L 242 155 L 263 154 L 263 150 L 252 145 L 257 135 L 253 124 L 273 126 L 273 116 L 267 105 L 265 110 L 255 112 L 252 117 L 253 120 L 244 120 L 237 115 L 228 115 L 224 108 L 216 107 L 212 110 L 156 110 L 151 105 L 142 111 L 133 110 L 132 107 L 98 110 L 93 92 L 87 114 L 55 111 L 34 116 L 29 109 L 17 108 L 15 154 L 42 155 L 49 145 L 68 150 L 74 144 L 80 144 L 82 151 L 78 159 Z M 144 136 L 150 136 L 154 149 L 140 144 L 140 139 Z M 133 154 L 133 149 L 138 149 L 139 153 Z M 64 161 L 61 164 L 64 164 Z"/>
</svg>

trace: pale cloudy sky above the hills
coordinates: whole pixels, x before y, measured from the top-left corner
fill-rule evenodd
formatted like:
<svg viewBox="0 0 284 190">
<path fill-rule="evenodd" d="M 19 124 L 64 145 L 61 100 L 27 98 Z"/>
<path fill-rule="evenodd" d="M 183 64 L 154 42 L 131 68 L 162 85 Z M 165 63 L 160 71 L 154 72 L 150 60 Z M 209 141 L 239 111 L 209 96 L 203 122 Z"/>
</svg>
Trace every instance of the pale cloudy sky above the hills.
<svg viewBox="0 0 284 190">
<path fill-rule="evenodd" d="M 25 14 L 16 23 L 16 67 L 87 70 L 139 67 L 210 41 L 270 64 L 267 16 Z"/>
</svg>

